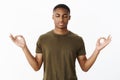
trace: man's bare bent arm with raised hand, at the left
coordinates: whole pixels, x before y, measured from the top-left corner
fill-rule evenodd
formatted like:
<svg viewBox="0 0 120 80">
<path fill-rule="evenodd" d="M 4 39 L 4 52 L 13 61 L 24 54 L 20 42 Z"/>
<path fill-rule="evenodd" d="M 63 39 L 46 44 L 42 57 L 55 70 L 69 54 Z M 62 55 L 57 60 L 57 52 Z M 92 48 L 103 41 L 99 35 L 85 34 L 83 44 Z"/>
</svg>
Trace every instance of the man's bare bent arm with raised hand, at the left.
<svg viewBox="0 0 120 80">
<path fill-rule="evenodd" d="M 31 67 L 37 71 L 40 69 L 41 65 L 42 65 L 42 54 L 38 53 L 36 54 L 36 56 L 34 57 L 31 52 L 29 51 L 25 39 L 23 36 L 21 35 L 17 35 L 15 37 L 13 37 L 13 35 L 10 35 L 11 40 L 19 47 L 22 48 L 29 64 L 31 65 Z"/>
</svg>

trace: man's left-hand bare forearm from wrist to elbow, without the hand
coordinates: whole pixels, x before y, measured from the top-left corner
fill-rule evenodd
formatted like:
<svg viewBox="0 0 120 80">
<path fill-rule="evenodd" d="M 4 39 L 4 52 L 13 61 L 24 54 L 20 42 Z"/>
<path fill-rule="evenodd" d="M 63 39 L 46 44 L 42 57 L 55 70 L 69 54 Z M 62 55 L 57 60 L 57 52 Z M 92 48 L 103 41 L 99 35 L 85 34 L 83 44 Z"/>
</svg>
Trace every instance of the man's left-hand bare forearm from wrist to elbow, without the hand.
<svg viewBox="0 0 120 80">
<path fill-rule="evenodd" d="M 27 46 L 25 46 L 24 48 L 22 48 L 29 64 L 31 65 L 31 67 L 37 71 L 39 69 L 39 65 L 38 62 L 36 60 L 36 58 L 31 54 L 31 52 L 29 51 L 29 49 L 27 48 Z"/>
</svg>

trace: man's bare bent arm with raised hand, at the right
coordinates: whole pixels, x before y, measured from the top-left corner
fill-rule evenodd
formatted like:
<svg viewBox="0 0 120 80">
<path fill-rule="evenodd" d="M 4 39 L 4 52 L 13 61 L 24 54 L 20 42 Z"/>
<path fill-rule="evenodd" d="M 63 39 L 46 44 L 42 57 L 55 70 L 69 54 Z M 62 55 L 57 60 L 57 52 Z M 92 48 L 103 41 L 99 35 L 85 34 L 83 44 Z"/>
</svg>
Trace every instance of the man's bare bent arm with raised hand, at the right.
<svg viewBox="0 0 120 80">
<path fill-rule="evenodd" d="M 101 42 L 101 40 L 104 40 L 104 41 Z M 104 47 L 106 47 L 110 43 L 110 41 L 111 41 L 110 36 L 108 36 L 107 39 L 104 37 L 101 37 L 98 39 L 97 44 L 96 44 L 96 48 L 95 48 L 93 54 L 90 56 L 90 58 L 87 59 L 85 55 L 81 55 L 81 56 L 77 57 L 78 62 L 79 62 L 83 71 L 87 72 L 91 68 L 91 66 L 96 61 L 97 56 L 99 55 L 100 51 Z"/>
</svg>

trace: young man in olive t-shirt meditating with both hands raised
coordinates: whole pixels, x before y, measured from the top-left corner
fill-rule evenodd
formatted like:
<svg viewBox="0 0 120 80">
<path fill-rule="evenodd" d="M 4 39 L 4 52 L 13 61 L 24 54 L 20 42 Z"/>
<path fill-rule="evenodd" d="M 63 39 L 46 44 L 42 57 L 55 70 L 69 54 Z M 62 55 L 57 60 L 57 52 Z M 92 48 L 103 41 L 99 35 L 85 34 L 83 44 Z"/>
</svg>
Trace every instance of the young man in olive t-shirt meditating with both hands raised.
<svg viewBox="0 0 120 80">
<path fill-rule="evenodd" d="M 22 48 L 29 64 L 37 71 L 44 62 L 43 80 L 77 80 L 75 61 L 78 60 L 83 71 L 88 71 L 96 61 L 100 51 L 106 47 L 111 37 L 101 37 L 97 40 L 96 48 L 90 58 L 86 58 L 86 51 L 82 37 L 67 29 L 70 20 L 70 9 L 65 4 L 58 4 L 53 9 L 55 28 L 39 37 L 36 56 L 29 51 L 25 39 L 21 35 L 13 37 L 12 41 Z M 104 42 L 101 43 L 101 39 Z"/>
</svg>

